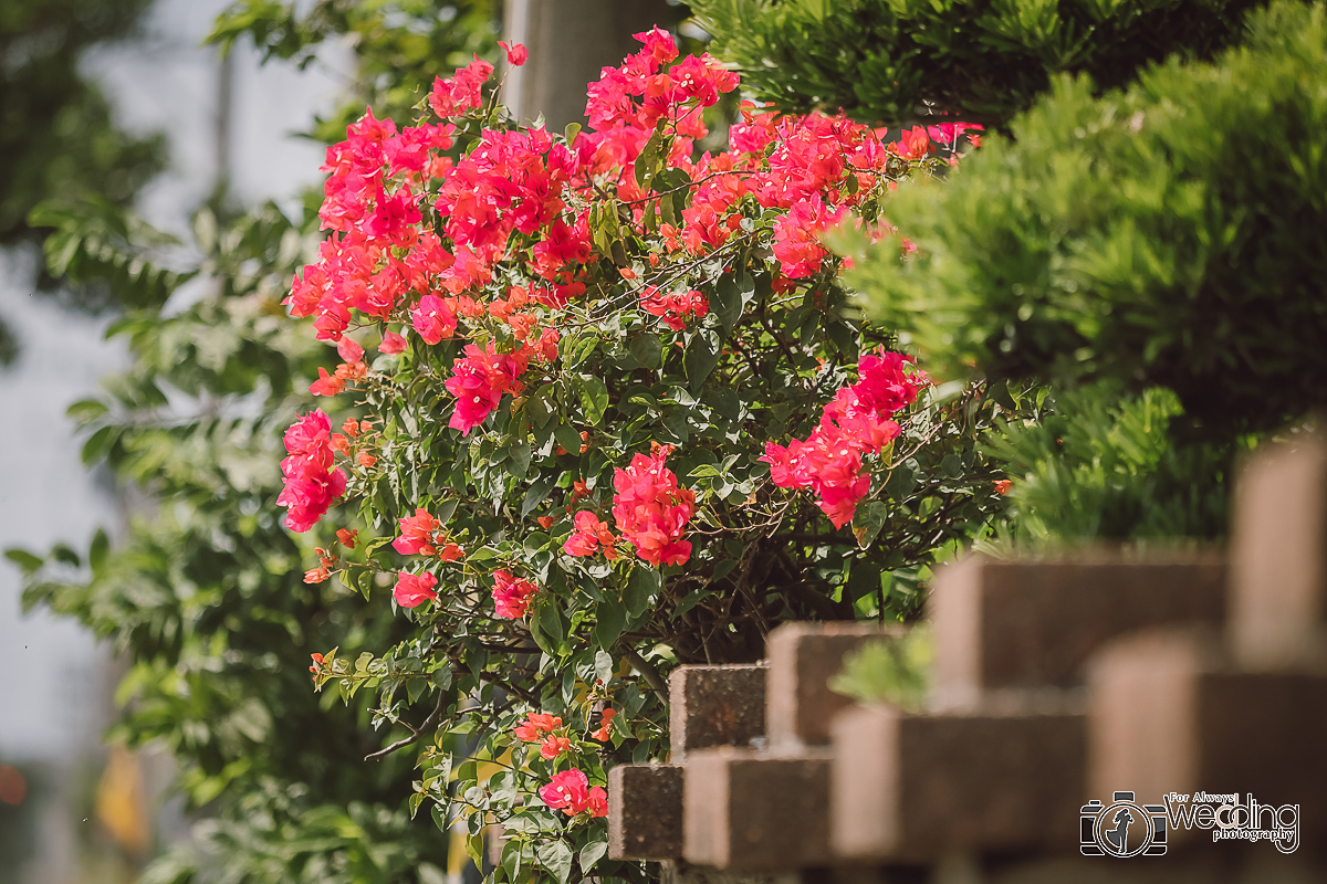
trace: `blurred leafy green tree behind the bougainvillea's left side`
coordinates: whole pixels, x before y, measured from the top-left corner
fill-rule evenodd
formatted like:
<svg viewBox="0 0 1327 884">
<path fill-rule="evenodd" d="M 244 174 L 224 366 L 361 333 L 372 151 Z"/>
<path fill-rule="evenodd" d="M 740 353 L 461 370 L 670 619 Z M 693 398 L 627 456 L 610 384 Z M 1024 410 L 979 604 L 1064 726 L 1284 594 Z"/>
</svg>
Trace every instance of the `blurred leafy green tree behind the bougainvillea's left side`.
<svg viewBox="0 0 1327 884">
<path fill-rule="evenodd" d="M 269 17 L 226 32 L 248 7 Z M 418 50 L 421 82 L 429 65 L 441 73 L 487 45 L 492 25 L 479 8 L 318 4 L 311 15 L 341 17 L 301 32 L 300 45 L 312 58 L 353 32 L 353 61 L 381 91 L 376 78 L 411 34 L 441 34 Z M 218 33 L 271 34 L 296 21 L 307 19 L 287 7 L 238 4 Z M 364 95 L 354 101 L 362 111 Z M 405 810 L 411 759 L 366 762 L 382 742 L 368 697 L 333 702 L 309 673 L 311 652 L 382 647 L 402 637 L 399 624 L 370 616 L 337 582 L 305 584 L 313 550 L 281 527 L 276 506 L 281 431 L 309 408 L 308 384 L 332 355 L 280 304 L 320 239 L 317 201 L 309 195 L 289 216 L 214 197 L 187 243 L 111 199 L 31 215 L 49 232 L 48 269 L 62 284 L 105 285 L 123 306 L 110 334 L 127 343 L 129 368 L 69 412 L 84 460 L 109 468 L 133 513 L 123 538 L 98 531 L 85 549 L 7 555 L 24 570 L 27 606 L 81 620 L 125 655 L 125 708 L 110 738 L 167 747 L 176 787 L 200 811 L 192 838 L 143 872 L 153 884 L 446 880 L 446 836 Z"/>
</svg>

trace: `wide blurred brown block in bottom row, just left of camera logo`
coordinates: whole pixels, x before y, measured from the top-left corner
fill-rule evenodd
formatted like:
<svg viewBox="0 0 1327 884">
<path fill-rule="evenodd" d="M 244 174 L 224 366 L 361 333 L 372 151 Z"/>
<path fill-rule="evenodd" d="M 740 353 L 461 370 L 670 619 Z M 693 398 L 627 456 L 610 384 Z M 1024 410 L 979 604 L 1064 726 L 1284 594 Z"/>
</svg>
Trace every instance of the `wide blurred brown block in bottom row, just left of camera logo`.
<svg viewBox="0 0 1327 884">
<path fill-rule="evenodd" d="M 1085 741 L 1074 702 L 971 714 L 849 709 L 833 726 L 835 856 L 926 861 L 1074 844 Z"/>
</svg>

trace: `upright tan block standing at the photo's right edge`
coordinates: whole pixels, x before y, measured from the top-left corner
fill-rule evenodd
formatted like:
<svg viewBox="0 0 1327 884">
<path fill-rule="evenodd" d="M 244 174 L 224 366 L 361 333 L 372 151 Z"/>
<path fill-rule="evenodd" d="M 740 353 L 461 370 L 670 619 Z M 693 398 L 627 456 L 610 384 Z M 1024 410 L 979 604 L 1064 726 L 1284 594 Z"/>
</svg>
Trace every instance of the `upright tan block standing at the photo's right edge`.
<svg viewBox="0 0 1327 884">
<path fill-rule="evenodd" d="M 1327 653 L 1327 440 L 1265 445 L 1239 476 L 1230 534 L 1230 637 L 1245 668 Z"/>
</svg>

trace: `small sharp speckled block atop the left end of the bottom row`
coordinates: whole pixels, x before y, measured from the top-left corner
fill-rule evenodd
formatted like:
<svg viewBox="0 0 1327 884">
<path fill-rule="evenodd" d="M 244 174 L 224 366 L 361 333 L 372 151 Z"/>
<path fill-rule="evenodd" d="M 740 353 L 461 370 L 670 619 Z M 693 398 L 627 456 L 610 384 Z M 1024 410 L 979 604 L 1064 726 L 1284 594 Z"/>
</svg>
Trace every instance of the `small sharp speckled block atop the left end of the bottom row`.
<svg viewBox="0 0 1327 884">
<path fill-rule="evenodd" d="M 694 749 L 747 746 L 764 736 L 764 664 L 679 667 L 669 677 L 673 761 Z"/>
</svg>

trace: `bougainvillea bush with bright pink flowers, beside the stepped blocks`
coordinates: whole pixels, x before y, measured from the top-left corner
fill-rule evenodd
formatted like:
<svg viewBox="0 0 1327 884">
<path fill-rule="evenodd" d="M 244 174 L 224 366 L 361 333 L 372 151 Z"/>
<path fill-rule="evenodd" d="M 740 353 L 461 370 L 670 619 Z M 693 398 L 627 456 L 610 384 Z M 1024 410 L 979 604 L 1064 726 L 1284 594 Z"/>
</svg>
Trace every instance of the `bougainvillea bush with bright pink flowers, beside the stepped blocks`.
<svg viewBox="0 0 1327 884">
<path fill-rule="evenodd" d="M 916 615 L 1001 501 L 974 439 L 1009 396 L 930 384 L 820 244 L 906 250 L 889 192 L 970 135 L 743 105 L 702 152 L 736 77 L 640 40 L 584 130 L 511 123 L 482 61 L 418 125 L 365 114 L 288 300 L 337 354 L 285 433 L 305 579 L 414 624 L 313 679 L 376 692 L 413 807 L 476 856 L 500 824 L 503 880 L 644 875 L 604 857 L 604 771 L 665 755 L 667 671 L 758 659 L 788 619 Z"/>
</svg>

